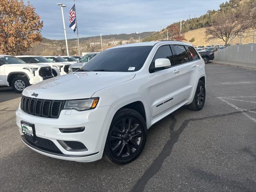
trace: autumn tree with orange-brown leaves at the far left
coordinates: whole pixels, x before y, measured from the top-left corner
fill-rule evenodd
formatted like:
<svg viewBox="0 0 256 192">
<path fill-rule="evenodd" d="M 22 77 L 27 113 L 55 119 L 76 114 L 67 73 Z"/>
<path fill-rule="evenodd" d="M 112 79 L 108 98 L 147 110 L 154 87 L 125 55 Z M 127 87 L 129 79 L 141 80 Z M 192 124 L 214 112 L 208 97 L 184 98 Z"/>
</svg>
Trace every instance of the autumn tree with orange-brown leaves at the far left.
<svg viewBox="0 0 256 192">
<path fill-rule="evenodd" d="M 35 8 L 23 0 L 1 0 L 0 54 L 23 54 L 42 41 L 43 22 Z"/>
</svg>

